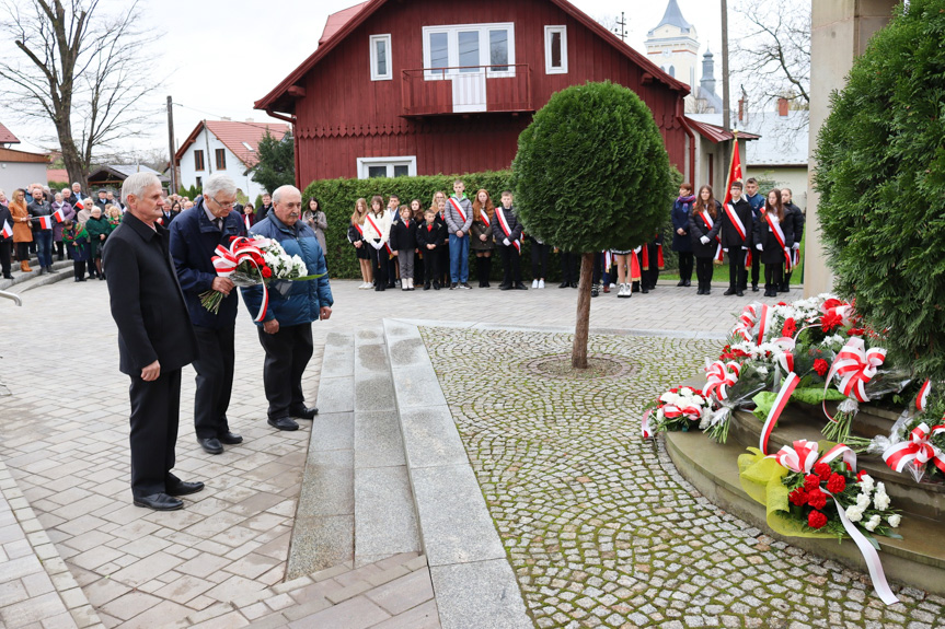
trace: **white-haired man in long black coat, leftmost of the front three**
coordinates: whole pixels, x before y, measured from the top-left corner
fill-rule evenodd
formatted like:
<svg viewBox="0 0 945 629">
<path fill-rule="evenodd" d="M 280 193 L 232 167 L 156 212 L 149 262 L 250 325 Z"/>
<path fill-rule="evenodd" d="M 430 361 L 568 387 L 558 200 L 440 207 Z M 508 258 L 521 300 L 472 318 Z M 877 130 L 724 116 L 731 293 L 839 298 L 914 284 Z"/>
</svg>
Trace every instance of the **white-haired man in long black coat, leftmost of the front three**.
<svg viewBox="0 0 945 629">
<path fill-rule="evenodd" d="M 170 254 L 170 235 L 155 221 L 161 182 L 150 173 L 125 179 L 128 212 L 105 244 L 103 260 L 112 317 L 118 326 L 118 369 L 131 378 L 131 494 L 137 506 L 181 509 L 177 496 L 203 482 L 173 474 L 181 407 L 181 368 L 197 342 Z"/>
</svg>

